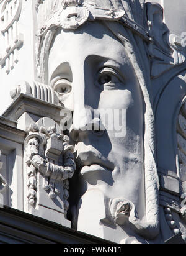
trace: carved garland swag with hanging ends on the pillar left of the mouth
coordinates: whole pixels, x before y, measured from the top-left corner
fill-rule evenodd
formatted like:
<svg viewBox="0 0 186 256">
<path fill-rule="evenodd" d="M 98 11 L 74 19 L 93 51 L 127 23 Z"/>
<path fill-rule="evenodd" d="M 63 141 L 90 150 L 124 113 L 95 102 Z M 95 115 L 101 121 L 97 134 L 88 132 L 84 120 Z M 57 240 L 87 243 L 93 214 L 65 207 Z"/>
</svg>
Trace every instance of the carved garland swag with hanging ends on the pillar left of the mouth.
<svg viewBox="0 0 186 256">
<path fill-rule="evenodd" d="M 43 177 L 43 189 L 50 199 L 56 198 L 63 190 L 64 214 L 66 214 L 69 206 L 68 178 L 72 178 L 76 170 L 74 148 L 69 145 L 69 137 L 58 134 L 55 126 L 32 124 L 28 132 L 24 145 L 29 204 L 34 207 L 37 203 L 37 173 L 39 172 Z M 61 155 L 63 166 L 58 164 Z M 60 181 L 63 181 L 63 188 L 60 187 Z"/>
</svg>

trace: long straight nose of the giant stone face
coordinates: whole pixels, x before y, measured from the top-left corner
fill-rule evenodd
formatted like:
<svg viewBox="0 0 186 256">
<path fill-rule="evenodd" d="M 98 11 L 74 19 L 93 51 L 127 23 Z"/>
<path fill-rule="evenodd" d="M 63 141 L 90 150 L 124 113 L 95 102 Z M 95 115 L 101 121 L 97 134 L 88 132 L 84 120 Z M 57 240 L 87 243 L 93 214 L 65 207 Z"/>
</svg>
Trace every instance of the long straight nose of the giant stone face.
<svg viewBox="0 0 186 256">
<path fill-rule="evenodd" d="M 93 83 L 90 77 L 88 79 L 86 71 L 81 68 L 79 72 L 77 69 L 74 72 L 74 112 L 70 135 L 75 141 L 83 140 L 90 132 L 101 134 L 100 131 L 103 130 L 96 109 L 92 107 L 94 95 L 90 93 Z"/>
</svg>

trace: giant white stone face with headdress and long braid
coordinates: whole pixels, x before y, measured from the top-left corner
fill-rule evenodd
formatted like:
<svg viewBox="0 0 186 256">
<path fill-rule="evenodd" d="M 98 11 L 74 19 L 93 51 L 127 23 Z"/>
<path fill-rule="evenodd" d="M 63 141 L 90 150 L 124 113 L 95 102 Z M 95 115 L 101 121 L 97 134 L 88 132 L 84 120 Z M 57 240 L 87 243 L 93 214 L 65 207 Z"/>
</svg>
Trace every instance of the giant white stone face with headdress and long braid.
<svg viewBox="0 0 186 256">
<path fill-rule="evenodd" d="M 76 144 L 79 175 L 85 181 L 75 217 L 78 229 L 97 235 L 104 211 L 105 222 L 113 227 L 120 224 L 116 232 L 123 235 L 117 235 L 117 242 L 125 239 L 125 226 L 146 237 L 155 237 L 159 231 L 146 70 L 145 41 L 150 39 L 140 27 L 143 9 L 139 1 L 64 1 L 39 34 L 39 48 L 47 47 L 48 52 L 48 65 L 41 61 L 42 52 L 39 55 L 39 75 L 58 92 L 64 107 L 73 111 L 70 134 Z M 123 14 L 130 18 L 127 22 L 133 30 L 123 26 Z M 103 111 L 112 113 L 107 120 Z M 113 128 L 119 122 L 122 126 L 117 132 Z M 98 201 L 96 196 L 92 199 L 92 191 Z M 98 216 L 89 213 L 90 200 Z M 96 224 L 92 217 L 98 218 Z M 86 218 L 96 226 L 86 225 Z"/>
</svg>

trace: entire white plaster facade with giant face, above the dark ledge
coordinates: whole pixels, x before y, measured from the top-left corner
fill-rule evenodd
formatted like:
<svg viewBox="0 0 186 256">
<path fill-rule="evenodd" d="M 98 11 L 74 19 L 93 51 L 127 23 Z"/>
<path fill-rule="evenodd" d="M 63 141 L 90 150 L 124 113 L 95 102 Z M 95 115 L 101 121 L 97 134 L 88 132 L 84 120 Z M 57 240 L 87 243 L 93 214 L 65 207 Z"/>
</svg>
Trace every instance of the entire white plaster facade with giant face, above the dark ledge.
<svg viewBox="0 0 186 256">
<path fill-rule="evenodd" d="M 117 243 L 186 242 L 186 4 L 129 2 L 0 1 L 0 203 Z M 123 137 L 101 108 L 126 109 Z"/>
</svg>

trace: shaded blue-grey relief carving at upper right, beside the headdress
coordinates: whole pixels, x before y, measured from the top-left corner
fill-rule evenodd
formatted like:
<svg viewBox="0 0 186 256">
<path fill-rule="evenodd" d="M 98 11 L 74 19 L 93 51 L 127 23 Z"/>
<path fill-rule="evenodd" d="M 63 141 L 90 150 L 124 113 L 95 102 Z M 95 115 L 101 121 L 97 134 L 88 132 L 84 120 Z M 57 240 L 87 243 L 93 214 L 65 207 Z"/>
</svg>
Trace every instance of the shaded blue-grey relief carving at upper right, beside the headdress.
<svg viewBox="0 0 186 256">
<path fill-rule="evenodd" d="M 163 22 L 164 11 L 159 4 L 148 2 L 146 10 L 148 34 L 153 37 L 148 46 L 151 56 L 151 77 L 158 78 L 185 62 L 185 45 L 182 44 L 181 35 L 170 34 Z"/>
</svg>

